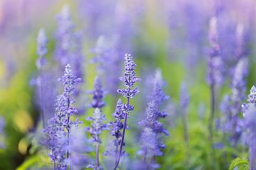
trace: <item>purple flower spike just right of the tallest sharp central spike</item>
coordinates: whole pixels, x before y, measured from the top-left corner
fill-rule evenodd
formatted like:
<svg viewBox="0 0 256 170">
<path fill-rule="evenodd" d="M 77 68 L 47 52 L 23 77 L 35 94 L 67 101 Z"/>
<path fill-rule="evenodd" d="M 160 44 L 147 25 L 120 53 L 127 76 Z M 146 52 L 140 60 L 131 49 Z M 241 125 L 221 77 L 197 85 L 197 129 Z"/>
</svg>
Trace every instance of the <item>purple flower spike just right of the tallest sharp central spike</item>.
<svg viewBox="0 0 256 170">
<path fill-rule="evenodd" d="M 159 122 L 159 118 L 165 118 L 167 113 L 160 111 L 160 106 L 164 101 L 169 99 L 169 96 L 164 94 L 158 82 L 154 85 L 153 93 L 149 97 L 151 101 L 147 104 L 146 118 L 139 122 L 139 125 L 144 127 L 142 132 L 142 149 L 139 154 L 143 155 L 143 164 L 145 169 L 159 168 L 156 164 L 155 157 L 161 156 L 163 153 L 160 149 L 164 149 L 165 145 L 159 143 L 159 134 L 169 135 L 169 132 L 164 128 L 164 125 Z"/>
</svg>

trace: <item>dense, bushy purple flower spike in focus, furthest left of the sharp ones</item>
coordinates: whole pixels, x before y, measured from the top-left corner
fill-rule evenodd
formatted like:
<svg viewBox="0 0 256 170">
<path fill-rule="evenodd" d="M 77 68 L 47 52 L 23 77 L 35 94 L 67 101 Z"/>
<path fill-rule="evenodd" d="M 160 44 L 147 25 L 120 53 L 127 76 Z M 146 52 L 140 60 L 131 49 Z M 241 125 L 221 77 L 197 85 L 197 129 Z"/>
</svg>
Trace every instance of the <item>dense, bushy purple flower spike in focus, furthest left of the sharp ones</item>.
<svg viewBox="0 0 256 170">
<path fill-rule="evenodd" d="M 70 65 L 65 67 L 64 76 L 58 79 L 63 82 L 64 92 L 56 99 L 55 115 L 48 120 L 48 126 L 43 130 L 46 137 L 43 145 L 50 149 L 49 157 L 54 164 L 54 169 L 67 169 L 70 166 L 70 130 L 78 125 L 78 119 L 74 122 L 70 116 L 77 113 L 73 107 L 74 86 L 80 78 L 73 75 Z"/>
</svg>

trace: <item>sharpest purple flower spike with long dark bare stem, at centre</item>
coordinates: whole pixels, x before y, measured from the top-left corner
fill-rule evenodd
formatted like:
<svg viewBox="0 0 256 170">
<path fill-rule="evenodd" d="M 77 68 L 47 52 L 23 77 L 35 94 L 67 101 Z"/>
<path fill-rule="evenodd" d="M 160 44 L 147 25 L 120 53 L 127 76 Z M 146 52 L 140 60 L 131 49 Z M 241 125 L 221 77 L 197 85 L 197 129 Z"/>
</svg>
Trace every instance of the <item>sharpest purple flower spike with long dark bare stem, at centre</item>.
<svg viewBox="0 0 256 170">
<path fill-rule="evenodd" d="M 122 139 L 121 139 L 121 143 L 120 143 L 120 147 L 119 147 L 119 152 L 117 154 L 117 159 L 116 159 L 116 164 L 114 166 L 114 169 L 117 169 L 119 162 L 120 162 L 120 158 L 122 156 L 122 147 L 124 146 L 124 135 L 125 135 L 125 130 L 127 128 L 127 117 L 128 114 L 134 110 L 134 107 L 132 105 L 129 104 L 129 100 L 130 98 L 134 98 L 134 96 L 139 93 L 139 89 L 138 87 L 134 87 L 134 83 L 136 83 L 137 81 L 141 81 L 141 79 L 137 78 L 135 76 L 135 67 L 136 64 L 134 63 L 134 61 L 132 60 L 132 55 L 130 54 L 125 54 L 124 57 L 124 77 L 120 77 L 119 79 L 121 81 L 124 81 L 124 86 L 126 86 L 126 89 L 118 89 L 117 92 L 119 94 L 122 94 L 125 98 L 127 98 L 127 103 L 124 104 L 124 127 L 122 130 Z"/>
</svg>

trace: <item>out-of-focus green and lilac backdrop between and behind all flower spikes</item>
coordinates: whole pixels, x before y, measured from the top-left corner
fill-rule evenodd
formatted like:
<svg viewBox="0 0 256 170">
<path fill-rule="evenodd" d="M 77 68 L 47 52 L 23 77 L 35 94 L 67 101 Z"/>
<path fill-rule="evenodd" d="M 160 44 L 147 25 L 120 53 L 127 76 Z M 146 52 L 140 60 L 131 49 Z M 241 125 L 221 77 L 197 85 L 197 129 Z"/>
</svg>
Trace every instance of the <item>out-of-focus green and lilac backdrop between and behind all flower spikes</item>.
<svg viewBox="0 0 256 170">
<path fill-rule="evenodd" d="M 5 122 L 0 137 L 4 142 L 4 147 L 0 149 L 0 169 L 33 169 L 35 164 L 48 164 L 47 156 L 41 154 L 41 147 L 35 142 L 35 134 L 42 129 L 36 85 L 33 83 L 39 74 L 36 68 L 36 38 L 38 30 L 44 28 L 48 37 L 46 57 L 53 62 L 58 28 L 56 18 L 65 5 L 70 8 L 75 30 L 82 40 L 85 61 L 82 62 L 85 72 L 82 79 L 85 81 L 81 89 L 92 89 L 95 75 L 99 74 L 97 62 L 93 61 L 97 56 L 95 47 L 100 44 L 106 49 L 114 49 L 114 55 L 121 58 L 121 62 L 117 63 L 119 72 L 101 71 L 104 75 L 103 87 L 110 92 L 105 98 L 107 106 L 103 109 L 108 120 L 113 120 L 111 114 L 115 103 L 122 98 L 113 90 L 118 88 L 118 84 L 110 85 L 112 80 L 108 81 L 108 76 L 116 77 L 117 81 L 122 76 L 123 57 L 127 52 L 134 56 L 137 63 L 137 75 L 142 82 L 139 83 L 140 93 L 132 100 L 135 109 L 130 115 L 131 130 L 127 130 L 126 136 L 126 150 L 130 154 L 127 162 L 139 159 L 137 150 L 142 128 L 137 123 L 144 118 L 146 96 L 151 93 L 150 79 L 156 72 L 161 72 L 164 91 L 170 96 L 163 106 L 169 113 L 162 121 L 169 130 L 169 136 L 163 137 L 166 144 L 164 156 L 157 158 L 160 169 L 228 169 L 235 157 L 247 159 L 247 146 L 231 147 L 228 141 L 222 140 L 218 130 L 215 130 L 215 143 L 220 147 L 216 147 L 215 160 L 210 156 L 210 88 L 206 81 L 208 30 L 210 18 L 215 16 L 221 56 L 225 62 L 225 82 L 218 95 L 219 104 L 225 94 L 231 93 L 233 68 L 238 63 L 235 47 L 239 24 L 243 26 L 245 55 L 250 60 L 247 89 L 255 84 L 256 1 L 0 0 L 0 115 Z M 183 140 L 179 113 L 180 87 L 183 83 L 188 87 L 190 96 L 188 147 Z M 85 100 L 78 103 L 87 106 L 91 96 L 84 95 Z M 216 108 L 216 118 L 221 118 L 223 113 L 218 106 Z M 92 115 L 92 108 L 79 115 L 85 126 L 90 125 L 85 121 L 89 115 Z M 104 132 L 103 141 L 109 138 Z M 107 142 L 103 142 L 102 152 L 105 145 Z M 105 157 L 101 156 L 101 159 Z"/>
</svg>

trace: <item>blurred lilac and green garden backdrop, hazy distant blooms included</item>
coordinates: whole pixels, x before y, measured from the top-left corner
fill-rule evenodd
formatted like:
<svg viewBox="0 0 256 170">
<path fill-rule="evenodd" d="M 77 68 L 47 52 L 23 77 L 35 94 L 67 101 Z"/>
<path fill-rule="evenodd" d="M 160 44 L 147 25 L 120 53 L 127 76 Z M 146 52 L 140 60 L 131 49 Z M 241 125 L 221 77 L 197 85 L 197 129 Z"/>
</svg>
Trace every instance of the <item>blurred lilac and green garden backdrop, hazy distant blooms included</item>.
<svg viewBox="0 0 256 170">
<path fill-rule="evenodd" d="M 122 158 L 120 169 L 139 169 L 143 127 L 138 123 L 145 118 L 156 79 L 169 96 L 161 106 L 168 115 L 159 120 L 169 132 L 159 135 L 166 145 L 163 155 L 155 158 L 159 169 L 229 169 L 236 158 L 238 169 L 249 169 L 248 128 L 240 106 L 247 103 L 256 81 L 255 17 L 254 0 L 0 0 L 0 169 L 51 169 L 49 151 L 40 140 L 44 124 L 55 114 L 55 99 L 63 92 L 57 79 L 65 69 L 61 57 L 67 54 L 60 48 L 69 46 L 68 62 L 82 79 L 80 93 L 74 94 L 78 114 L 73 116 L 82 121 L 79 130 L 86 139 L 90 134 L 84 129 L 91 124 L 85 118 L 93 113 L 89 91 L 95 77 L 107 91 L 102 113 L 108 123 L 114 121 L 118 98 L 124 101 L 117 93 L 123 86 L 119 77 L 124 55 L 132 54 L 137 64 L 136 75 L 142 81 L 131 99 L 134 111 L 129 114 L 124 147 L 129 156 Z M 43 68 L 37 49 L 41 28 L 48 39 Z M 63 38 L 71 32 L 71 38 Z M 220 67 L 210 64 L 215 48 Z M 215 81 L 221 79 L 213 91 L 209 72 L 218 72 Z M 235 89 L 235 81 L 242 89 Z M 234 95 L 240 96 L 239 102 Z M 228 110 L 234 103 L 237 111 Z M 233 118 L 229 113 L 239 119 L 235 142 L 233 128 L 226 125 Z M 102 133 L 104 169 L 114 168 L 102 155 L 111 137 L 107 130 Z M 87 146 L 93 148 L 90 142 L 85 142 Z M 74 169 L 86 169 L 95 157 L 89 151 L 84 153 L 85 165 Z"/>
</svg>

